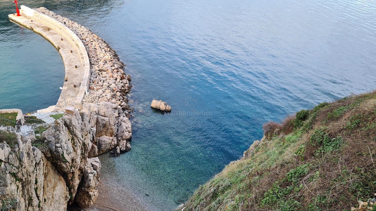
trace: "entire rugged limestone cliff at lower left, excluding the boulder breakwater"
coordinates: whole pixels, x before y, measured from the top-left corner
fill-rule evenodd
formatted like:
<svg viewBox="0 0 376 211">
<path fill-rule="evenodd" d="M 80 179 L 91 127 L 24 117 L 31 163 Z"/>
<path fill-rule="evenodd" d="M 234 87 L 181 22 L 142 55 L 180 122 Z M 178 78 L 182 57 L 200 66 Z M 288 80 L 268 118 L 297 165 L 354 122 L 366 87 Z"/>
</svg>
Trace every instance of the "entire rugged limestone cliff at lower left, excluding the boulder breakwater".
<svg viewBox="0 0 376 211">
<path fill-rule="evenodd" d="M 12 147 L 0 143 L 0 203 L 16 210 L 66 210 L 74 201 L 91 206 L 100 178 L 99 159 L 88 158 L 94 119 L 96 113 L 68 107 L 42 133 L 38 148 L 32 136 L 18 135 Z"/>
</svg>

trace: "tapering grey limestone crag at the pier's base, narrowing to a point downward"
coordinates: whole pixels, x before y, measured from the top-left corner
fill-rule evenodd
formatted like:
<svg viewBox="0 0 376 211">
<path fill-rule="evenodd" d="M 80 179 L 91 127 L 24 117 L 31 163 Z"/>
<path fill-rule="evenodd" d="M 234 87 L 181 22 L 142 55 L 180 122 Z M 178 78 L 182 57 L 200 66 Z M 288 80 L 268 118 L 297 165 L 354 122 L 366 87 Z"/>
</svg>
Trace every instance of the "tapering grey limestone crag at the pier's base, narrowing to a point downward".
<svg viewBox="0 0 376 211">
<path fill-rule="evenodd" d="M 66 114 L 42 134 L 47 145 L 42 152 L 64 177 L 72 196 L 69 204 L 73 202 L 91 146 L 88 115 L 68 107 Z"/>
</svg>

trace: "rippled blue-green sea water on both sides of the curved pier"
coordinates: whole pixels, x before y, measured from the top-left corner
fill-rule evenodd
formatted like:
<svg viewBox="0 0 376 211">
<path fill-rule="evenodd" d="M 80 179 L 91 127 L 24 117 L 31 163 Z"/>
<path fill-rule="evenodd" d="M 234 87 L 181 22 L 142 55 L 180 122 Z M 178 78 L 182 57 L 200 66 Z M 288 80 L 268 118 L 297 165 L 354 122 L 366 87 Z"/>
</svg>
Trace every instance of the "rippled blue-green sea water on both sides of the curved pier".
<svg viewBox="0 0 376 211">
<path fill-rule="evenodd" d="M 375 88 L 374 1 L 22 3 L 45 6 L 92 29 L 127 63 L 135 108 L 132 150 L 117 158 L 102 157 L 102 175 L 116 176 L 119 184 L 157 210 L 173 209 L 224 165 L 238 159 L 253 140 L 262 137 L 264 122 Z M 30 64 L 34 56 L 41 58 L 39 66 L 51 78 L 43 86 L 58 87 L 64 70 L 57 51 L 38 35 L 8 23 L 5 15 L 12 5 L 0 5 L 0 29 L 27 35 L 16 43 L 13 33 L 0 31 L 0 98 L 14 99 L 13 95 L 25 95 L 26 90 L 27 95 L 47 92 L 35 88 L 39 77 L 31 79 L 39 69 Z M 13 58 L 25 50 L 30 51 L 23 60 L 32 68 L 29 72 L 14 65 L 19 59 Z M 8 71 L 12 75 L 3 73 Z M 25 74 L 30 83 L 12 86 L 8 95 L 9 85 L 3 81 Z M 53 104 L 58 95 L 48 101 Z M 151 110 L 152 99 L 168 102 L 173 112 Z M 32 102 L 44 108 L 48 105 L 41 102 L 46 101 L 35 98 Z M 2 102 L 1 106 L 14 104 Z"/>
</svg>

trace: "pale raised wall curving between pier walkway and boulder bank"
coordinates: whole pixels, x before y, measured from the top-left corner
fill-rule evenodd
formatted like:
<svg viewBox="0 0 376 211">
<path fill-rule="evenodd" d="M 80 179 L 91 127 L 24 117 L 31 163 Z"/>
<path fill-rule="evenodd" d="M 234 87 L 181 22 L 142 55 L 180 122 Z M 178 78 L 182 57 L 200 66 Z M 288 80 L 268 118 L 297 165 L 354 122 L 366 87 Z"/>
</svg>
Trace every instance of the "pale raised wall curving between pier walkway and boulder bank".
<svg viewBox="0 0 376 211">
<path fill-rule="evenodd" d="M 27 6 L 21 5 L 21 13 L 23 16 L 26 16 L 28 18 L 32 18 L 34 20 L 37 20 L 40 23 L 45 24 L 47 27 L 55 30 L 58 32 L 61 36 L 63 36 L 65 39 L 67 39 L 74 48 L 76 48 L 77 52 L 80 52 L 82 54 L 82 60 L 83 60 L 83 78 L 81 82 L 81 86 L 79 89 L 79 92 L 77 93 L 76 101 L 75 101 L 75 108 L 76 109 L 81 109 L 82 108 L 82 99 L 85 97 L 85 94 L 88 91 L 89 87 L 89 80 L 90 80 L 90 62 L 89 62 L 89 57 L 88 53 L 86 51 L 85 46 L 83 45 L 82 41 L 80 38 L 77 37 L 76 34 L 72 32 L 68 27 L 66 27 L 64 24 L 60 23 L 59 21 L 48 17 L 47 15 L 44 15 L 40 12 L 37 12 L 31 8 L 28 8 Z M 43 36 L 43 32 L 38 32 Z M 47 36 L 44 36 L 46 39 Z M 58 45 L 51 43 L 58 48 Z M 64 61 L 64 55 L 61 53 L 61 56 Z"/>
</svg>

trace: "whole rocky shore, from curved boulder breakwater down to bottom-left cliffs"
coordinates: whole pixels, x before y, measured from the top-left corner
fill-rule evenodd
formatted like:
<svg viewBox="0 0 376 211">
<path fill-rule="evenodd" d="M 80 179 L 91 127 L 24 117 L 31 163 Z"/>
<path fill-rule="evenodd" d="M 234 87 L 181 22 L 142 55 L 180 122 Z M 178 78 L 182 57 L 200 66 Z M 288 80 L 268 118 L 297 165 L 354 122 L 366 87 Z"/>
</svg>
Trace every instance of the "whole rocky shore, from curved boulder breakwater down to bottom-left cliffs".
<svg viewBox="0 0 376 211">
<path fill-rule="evenodd" d="M 46 8 L 34 10 L 65 24 L 81 39 L 90 62 L 89 89 L 80 111 L 67 107 L 64 116 L 42 128 L 38 137 L 0 130 L 0 207 L 89 207 L 99 194 L 98 156 L 131 149 L 133 108 L 127 104 L 131 78 L 102 38 Z"/>
</svg>

